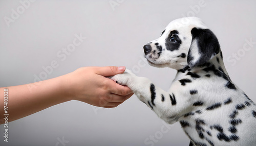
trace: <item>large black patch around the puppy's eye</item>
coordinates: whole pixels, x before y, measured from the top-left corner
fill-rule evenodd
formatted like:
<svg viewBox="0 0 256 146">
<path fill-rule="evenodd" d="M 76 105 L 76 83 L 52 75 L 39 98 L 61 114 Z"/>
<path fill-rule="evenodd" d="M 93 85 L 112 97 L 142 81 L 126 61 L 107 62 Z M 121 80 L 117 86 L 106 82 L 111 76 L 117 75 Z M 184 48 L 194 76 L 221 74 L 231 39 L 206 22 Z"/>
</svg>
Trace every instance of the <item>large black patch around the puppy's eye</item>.
<svg viewBox="0 0 256 146">
<path fill-rule="evenodd" d="M 181 40 L 180 40 L 178 34 L 179 34 L 179 32 L 176 30 L 171 31 L 169 33 L 168 37 L 165 39 L 166 50 L 168 50 L 168 51 L 179 50 Z M 170 41 L 170 38 L 172 38 L 172 37 L 176 40 L 175 42 Z"/>
</svg>

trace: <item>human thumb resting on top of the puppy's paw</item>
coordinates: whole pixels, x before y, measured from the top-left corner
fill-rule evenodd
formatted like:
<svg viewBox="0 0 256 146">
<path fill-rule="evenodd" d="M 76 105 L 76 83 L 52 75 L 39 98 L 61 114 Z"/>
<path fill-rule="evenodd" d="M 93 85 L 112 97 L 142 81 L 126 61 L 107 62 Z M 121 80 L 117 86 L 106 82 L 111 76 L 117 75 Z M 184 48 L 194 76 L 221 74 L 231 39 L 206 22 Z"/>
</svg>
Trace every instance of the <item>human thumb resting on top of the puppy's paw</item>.
<svg viewBox="0 0 256 146">
<path fill-rule="evenodd" d="M 123 73 L 125 70 L 125 66 L 105 66 L 105 67 L 99 67 L 98 70 L 95 71 L 96 74 L 109 77 L 109 76 L 115 76 L 117 74 Z"/>
</svg>

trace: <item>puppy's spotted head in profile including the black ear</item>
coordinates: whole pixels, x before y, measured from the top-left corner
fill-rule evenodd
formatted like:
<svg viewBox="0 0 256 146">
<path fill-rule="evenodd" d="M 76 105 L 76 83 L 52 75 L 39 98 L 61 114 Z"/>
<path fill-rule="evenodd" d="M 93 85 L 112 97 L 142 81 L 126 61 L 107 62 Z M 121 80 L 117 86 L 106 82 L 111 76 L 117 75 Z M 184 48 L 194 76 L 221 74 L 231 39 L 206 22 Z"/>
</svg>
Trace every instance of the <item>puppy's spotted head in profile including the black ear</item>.
<svg viewBox="0 0 256 146">
<path fill-rule="evenodd" d="M 158 39 L 143 48 L 150 65 L 174 69 L 195 67 L 220 52 L 217 37 L 197 17 L 170 22 Z"/>
</svg>

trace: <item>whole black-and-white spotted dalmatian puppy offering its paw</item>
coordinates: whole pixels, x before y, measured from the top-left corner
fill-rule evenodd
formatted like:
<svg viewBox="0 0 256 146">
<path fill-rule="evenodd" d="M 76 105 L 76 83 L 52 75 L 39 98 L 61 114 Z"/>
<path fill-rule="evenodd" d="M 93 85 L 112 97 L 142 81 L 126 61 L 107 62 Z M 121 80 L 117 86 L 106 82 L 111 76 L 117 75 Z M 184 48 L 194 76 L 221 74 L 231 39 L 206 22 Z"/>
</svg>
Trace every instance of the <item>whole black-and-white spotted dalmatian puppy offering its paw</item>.
<svg viewBox="0 0 256 146">
<path fill-rule="evenodd" d="M 130 70 L 112 80 L 166 123 L 179 121 L 189 145 L 256 145 L 256 104 L 229 78 L 218 39 L 199 18 L 170 22 L 143 48 L 148 64 L 177 70 L 169 91 Z"/>
</svg>

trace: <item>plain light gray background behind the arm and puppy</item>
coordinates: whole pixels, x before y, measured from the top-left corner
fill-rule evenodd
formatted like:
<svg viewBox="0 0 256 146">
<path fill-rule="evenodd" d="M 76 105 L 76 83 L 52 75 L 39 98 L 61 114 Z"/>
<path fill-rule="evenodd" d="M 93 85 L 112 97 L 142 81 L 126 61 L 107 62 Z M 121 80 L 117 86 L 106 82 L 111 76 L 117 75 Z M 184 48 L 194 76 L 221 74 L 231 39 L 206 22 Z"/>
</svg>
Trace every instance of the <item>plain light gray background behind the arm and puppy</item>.
<svg viewBox="0 0 256 146">
<path fill-rule="evenodd" d="M 113 2 L 118 5 L 112 7 Z M 0 87 L 32 83 L 43 66 L 56 60 L 59 66 L 47 79 L 82 66 L 125 65 L 167 90 L 176 70 L 145 64 L 142 47 L 170 21 L 197 16 L 218 37 L 232 81 L 255 102 L 256 44 L 246 40 L 256 41 L 256 1 L 202 3 L 204 7 L 201 1 L 38 0 L 20 12 L 20 1 L 0 1 Z M 5 18 L 12 18 L 17 8 L 21 14 L 8 27 Z M 61 61 L 57 53 L 73 43 L 75 34 L 86 39 Z M 245 51 L 245 46 L 251 49 Z M 9 123 L 8 143 L 3 132 L 0 125 L 0 145 L 146 145 L 150 135 L 157 136 L 154 145 L 189 143 L 178 123 L 167 129 L 135 95 L 113 109 L 62 103 Z M 61 144 L 62 138 L 68 143 Z"/>
</svg>

